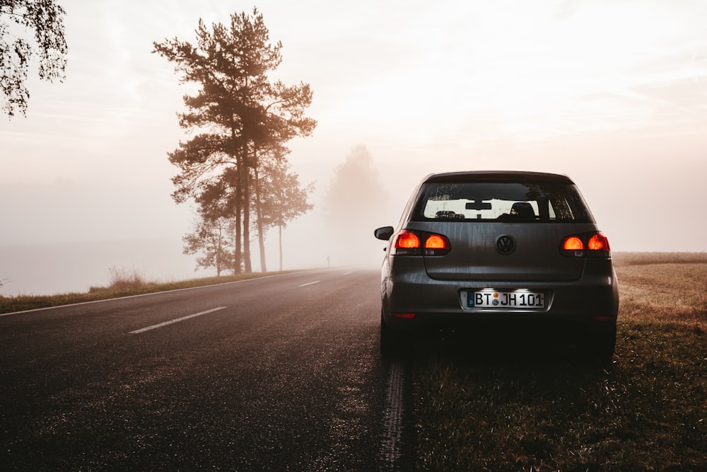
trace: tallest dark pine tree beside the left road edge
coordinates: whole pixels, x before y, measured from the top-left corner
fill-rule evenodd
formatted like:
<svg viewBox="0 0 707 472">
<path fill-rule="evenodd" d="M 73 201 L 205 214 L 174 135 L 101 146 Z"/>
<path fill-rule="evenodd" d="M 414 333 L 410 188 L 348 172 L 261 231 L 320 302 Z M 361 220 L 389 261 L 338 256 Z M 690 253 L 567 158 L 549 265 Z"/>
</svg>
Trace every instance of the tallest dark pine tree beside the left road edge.
<svg viewBox="0 0 707 472">
<path fill-rule="evenodd" d="M 180 169 L 173 178 L 173 197 L 184 202 L 199 195 L 199 183 L 234 168 L 228 182 L 234 191 L 236 224 L 235 272 L 250 272 L 250 201 L 252 175 L 262 149 L 296 136 L 308 136 L 315 120 L 304 112 L 312 101 L 308 84 L 271 83 L 268 74 L 281 62 L 281 43 L 272 45 L 257 8 L 230 17 L 230 25 L 207 28 L 199 20 L 197 42 L 177 38 L 154 42 L 154 51 L 175 64 L 182 83 L 199 86 L 195 96 L 185 96 L 187 112 L 180 126 L 199 134 L 169 153 Z"/>
</svg>

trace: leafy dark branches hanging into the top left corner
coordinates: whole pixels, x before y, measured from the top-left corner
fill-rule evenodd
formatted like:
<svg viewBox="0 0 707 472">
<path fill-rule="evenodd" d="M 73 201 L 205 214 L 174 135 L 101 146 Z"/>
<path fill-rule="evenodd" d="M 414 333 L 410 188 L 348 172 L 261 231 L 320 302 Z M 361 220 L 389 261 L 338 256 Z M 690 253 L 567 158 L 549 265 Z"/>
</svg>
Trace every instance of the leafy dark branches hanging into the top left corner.
<svg viewBox="0 0 707 472">
<path fill-rule="evenodd" d="M 0 0 L 0 86 L 8 118 L 17 111 L 27 115 L 30 92 L 25 80 L 34 54 L 40 58 L 40 79 L 64 79 L 69 51 L 64 38 L 65 14 L 54 0 Z M 32 34 L 35 45 L 27 38 Z"/>
</svg>

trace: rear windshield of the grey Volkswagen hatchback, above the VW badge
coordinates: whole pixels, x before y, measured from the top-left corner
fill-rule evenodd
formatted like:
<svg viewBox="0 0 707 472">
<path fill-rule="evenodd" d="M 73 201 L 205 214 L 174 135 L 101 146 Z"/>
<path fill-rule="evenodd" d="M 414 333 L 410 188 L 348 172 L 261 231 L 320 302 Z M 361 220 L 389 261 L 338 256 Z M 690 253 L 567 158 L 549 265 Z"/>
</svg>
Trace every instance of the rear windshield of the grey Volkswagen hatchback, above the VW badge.
<svg viewBox="0 0 707 472">
<path fill-rule="evenodd" d="M 556 182 L 428 182 L 412 221 L 592 223 L 575 185 Z"/>
</svg>

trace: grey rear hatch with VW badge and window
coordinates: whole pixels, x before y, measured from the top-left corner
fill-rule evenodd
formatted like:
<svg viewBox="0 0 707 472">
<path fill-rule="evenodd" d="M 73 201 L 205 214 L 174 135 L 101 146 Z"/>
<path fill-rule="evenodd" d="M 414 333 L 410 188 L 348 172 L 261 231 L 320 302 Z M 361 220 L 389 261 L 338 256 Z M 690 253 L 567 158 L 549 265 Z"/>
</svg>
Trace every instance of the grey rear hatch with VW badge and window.
<svg viewBox="0 0 707 472">
<path fill-rule="evenodd" d="M 448 238 L 450 251 L 424 256 L 439 280 L 577 280 L 585 259 L 567 257 L 563 240 L 597 231 L 574 183 L 540 173 L 431 176 L 406 227 Z"/>
</svg>

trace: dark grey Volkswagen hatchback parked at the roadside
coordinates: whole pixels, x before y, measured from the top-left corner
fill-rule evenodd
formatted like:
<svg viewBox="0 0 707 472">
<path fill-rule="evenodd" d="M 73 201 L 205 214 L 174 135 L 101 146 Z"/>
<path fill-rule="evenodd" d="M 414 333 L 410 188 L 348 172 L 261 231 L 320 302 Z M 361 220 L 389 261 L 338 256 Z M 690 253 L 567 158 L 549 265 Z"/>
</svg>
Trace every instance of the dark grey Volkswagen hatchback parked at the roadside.
<svg viewBox="0 0 707 472">
<path fill-rule="evenodd" d="M 542 336 L 612 362 L 619 287 L 609 240 L 566 175 L 436 173 L 412 193 L 381 266 L 380 353 L 429 333 Z M 533 338 L 530 338 L 532 341 Z"/>
</svg>

